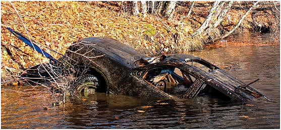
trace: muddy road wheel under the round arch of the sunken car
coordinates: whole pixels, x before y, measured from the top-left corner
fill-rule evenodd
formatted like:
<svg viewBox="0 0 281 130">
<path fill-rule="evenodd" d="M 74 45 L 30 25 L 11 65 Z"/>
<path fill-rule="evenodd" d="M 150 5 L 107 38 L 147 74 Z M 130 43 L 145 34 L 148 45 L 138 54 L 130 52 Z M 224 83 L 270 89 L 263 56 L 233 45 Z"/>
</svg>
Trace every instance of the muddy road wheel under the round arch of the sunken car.
<svg viewBox="0 0 281 130">
<path fill-rule="evenodd" d="M 85 74 L 79 77 L 73 84 L 72 89 L 74 94 L 87 93 L 94 94 L 98 87 L 98 79 L 92 74 Z"/>
</svg>

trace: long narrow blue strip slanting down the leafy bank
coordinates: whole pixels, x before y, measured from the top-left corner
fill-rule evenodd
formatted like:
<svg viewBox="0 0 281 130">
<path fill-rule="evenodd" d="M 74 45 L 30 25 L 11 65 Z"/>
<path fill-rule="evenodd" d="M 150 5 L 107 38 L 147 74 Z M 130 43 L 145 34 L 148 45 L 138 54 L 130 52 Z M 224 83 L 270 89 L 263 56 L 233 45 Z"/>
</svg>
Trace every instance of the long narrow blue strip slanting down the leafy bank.
<svg viewBox="0 0 281 130">
<path fill-rule="evenodd" d="M 24 35 L 20 34 L 19 32 L 14 31 L 13 29 L 7 27 L 7 29 L 14 34 L 17 38 L 19 38 L 20 40 L 22 40 L 25 44 L 27 44 L 28 46 L 30 46 L 31 48 L 33 48 L 35 51 L 39 52 L 40 54 L 42 54 L 43 56 L 47 57 L 48 59 L 50 59 L 50 63 L 51 61 L 53 61 L 54 63 L 57 63 L 58 61 L 56 59 L 54 59 L 50 54 L 48 54 L 47 52 L 43 51 L 41 48 L 39 48 L 37 45 L 33 44 L 30 40 L 28 40 L 28 38 L 26 38 Z"/>
</svg>

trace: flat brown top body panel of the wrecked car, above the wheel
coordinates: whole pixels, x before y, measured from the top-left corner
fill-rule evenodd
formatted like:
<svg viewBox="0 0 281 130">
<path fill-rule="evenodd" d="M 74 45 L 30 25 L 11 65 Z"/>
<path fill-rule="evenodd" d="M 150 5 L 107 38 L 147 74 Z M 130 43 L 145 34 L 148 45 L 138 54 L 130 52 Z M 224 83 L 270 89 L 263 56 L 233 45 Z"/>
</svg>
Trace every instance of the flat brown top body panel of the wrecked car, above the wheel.
<svg viewBox="0 0 281 130">
<path fill-rule="evenodd" d="M 94 44 L 92 47 L 96 50 L 130 68 L 133 67 L 133 63 L 137 59 L 147 57 L 145 54 L 136 51 L 128 45 L 108 37 L 91 37 L 81 39 L 78 42 L 90 42 L 91 44 Z"/>
</svg>

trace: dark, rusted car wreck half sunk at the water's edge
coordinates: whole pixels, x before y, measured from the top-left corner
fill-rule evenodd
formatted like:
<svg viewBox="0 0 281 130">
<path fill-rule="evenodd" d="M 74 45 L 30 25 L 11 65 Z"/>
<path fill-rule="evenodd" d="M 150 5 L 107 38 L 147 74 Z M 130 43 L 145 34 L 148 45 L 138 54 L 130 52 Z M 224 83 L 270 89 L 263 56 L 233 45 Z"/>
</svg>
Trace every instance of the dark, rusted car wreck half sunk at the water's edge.
<svg viewBox="0 0 281 130">
<path fill-rule="evenodd" d="M 62 59 L 73 66 L 71 73 L 77 77 L 71 93 L 97 91 L 170 99 L 209 95 L 238 101 L 262 96 L 272 101 L 250 87 L 253 82 L 246 84 L 199 57 L 148 57 L 107 37 L 81 39 L 69 47 Z M 21 77 L 49 74 L 39 67 L 30 68 Z"/>
</svg>

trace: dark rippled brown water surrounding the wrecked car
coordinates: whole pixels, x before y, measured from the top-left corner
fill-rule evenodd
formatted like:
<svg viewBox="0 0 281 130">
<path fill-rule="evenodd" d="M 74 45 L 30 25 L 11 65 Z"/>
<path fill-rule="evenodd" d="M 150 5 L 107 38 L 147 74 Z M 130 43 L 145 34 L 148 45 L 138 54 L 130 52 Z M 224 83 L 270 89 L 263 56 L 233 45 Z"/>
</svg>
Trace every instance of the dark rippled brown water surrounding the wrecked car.
<svg viewBox="0 0 281 130">
<path fill-rule="evenodd" d="M 1 92 L 2 128 L 279 128 L 279 34 L 231 37 L 200 56 L 252 86 L 275 102 L 252 102 L 197 97 L 158 101 L 123 95 L 80 96 L 65 106 L 52 107 L 47 90 L 4 87 Z M 22 91 L 22 92 L 15 92 Z M 40 92 L 39 92 L 40 91 Z M 44 109 L 47 107 L 48 109 Z"/>
</svg>

